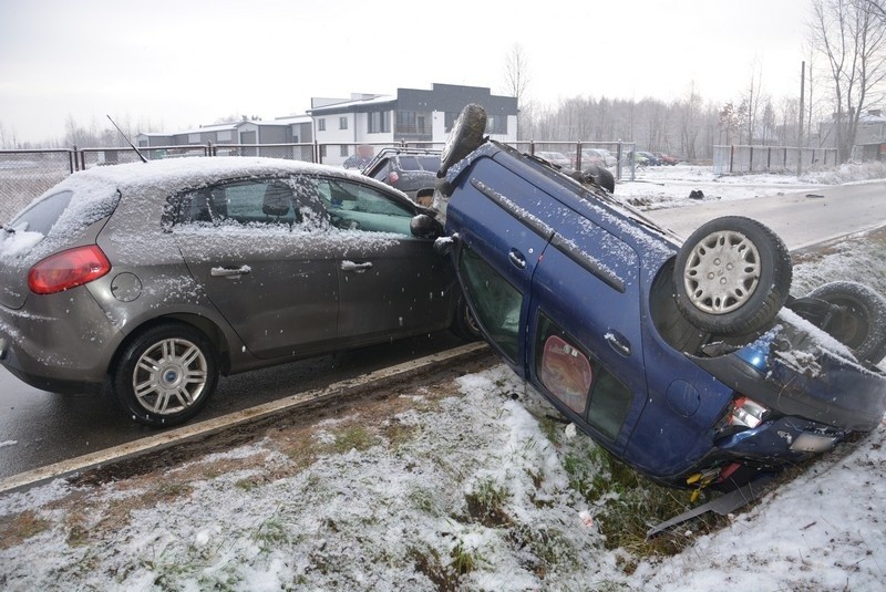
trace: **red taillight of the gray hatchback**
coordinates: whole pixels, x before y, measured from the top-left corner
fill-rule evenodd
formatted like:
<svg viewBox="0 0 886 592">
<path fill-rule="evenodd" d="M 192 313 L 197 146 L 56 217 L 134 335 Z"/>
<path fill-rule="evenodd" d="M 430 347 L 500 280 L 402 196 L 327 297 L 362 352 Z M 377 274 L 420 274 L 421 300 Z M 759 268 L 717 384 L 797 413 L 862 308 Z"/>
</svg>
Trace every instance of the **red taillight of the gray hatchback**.
<svg viewBox="0 0 886 592">
<path fill-rule="evenodd" d="M 97 280 L 111 271 L 111 262 L 97 245 L 51 255 L 28 272 L 28 288 L 35 294 L 54 294 Z"/>
</svg>

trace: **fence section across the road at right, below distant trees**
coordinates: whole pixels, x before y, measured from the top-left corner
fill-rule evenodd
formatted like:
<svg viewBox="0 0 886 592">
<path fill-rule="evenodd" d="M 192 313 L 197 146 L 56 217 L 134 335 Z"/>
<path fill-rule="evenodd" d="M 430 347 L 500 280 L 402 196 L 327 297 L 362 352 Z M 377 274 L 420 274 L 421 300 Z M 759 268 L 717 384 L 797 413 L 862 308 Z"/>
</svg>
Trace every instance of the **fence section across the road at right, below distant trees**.
<svg viewBox="0 0 886 592">
<path fill-rule="evenodd" d="M 813 166 L 837 164 L 836 148 L 796 148 L 791 146 L 714 146 L 714 175 L 734 173 L 805 172 Z"/>
</svg>

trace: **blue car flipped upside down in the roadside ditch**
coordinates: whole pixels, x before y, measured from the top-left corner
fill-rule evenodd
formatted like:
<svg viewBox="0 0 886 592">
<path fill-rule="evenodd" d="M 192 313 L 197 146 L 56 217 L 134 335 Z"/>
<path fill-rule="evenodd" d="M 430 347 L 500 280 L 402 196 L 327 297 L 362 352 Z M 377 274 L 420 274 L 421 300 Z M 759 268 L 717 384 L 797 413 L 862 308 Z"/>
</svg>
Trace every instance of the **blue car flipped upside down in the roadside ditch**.
<svg viewBox="0 0 886 592">
<path fill-rule="evenodd" d="M 660 482 L 729 490 L 883 420 L 883 297 L 836 282 L 793 298 L 762 224 L 683 241 L 483 137 L 484 120 L 465 107 L 435 219 L 413 231 L 441 235 L 498 356 L 600 446 Z"/>
</svg>

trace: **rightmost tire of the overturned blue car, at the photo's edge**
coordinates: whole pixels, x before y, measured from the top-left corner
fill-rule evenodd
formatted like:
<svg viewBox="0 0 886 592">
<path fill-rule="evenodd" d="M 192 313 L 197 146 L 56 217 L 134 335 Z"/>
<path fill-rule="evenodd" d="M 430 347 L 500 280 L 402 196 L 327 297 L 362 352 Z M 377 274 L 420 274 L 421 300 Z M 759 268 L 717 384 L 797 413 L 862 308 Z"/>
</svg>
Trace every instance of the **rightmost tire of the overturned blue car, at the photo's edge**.
<svg viewBox="0 0 886 592">
<path fill-rule="evenodd" d="M 862 283 L 836 281 L 810 292 L 808 298 L 841 307 L 822 329 L 859 360 L 878 363 L 886 353 L 886 299 Z"/>
</svg>

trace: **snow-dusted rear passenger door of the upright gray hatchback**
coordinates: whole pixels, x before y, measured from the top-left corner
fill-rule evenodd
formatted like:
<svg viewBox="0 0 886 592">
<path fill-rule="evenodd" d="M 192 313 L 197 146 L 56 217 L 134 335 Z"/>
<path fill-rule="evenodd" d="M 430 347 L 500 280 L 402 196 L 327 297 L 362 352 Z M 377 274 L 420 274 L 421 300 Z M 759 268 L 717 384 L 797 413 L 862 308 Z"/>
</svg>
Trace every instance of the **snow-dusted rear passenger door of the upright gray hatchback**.
<svg viewBox="0 0 886 592">
<path fill-rule="evenodd" d="M 317 178 L 245 179 L 181 196 L 172 227 L 194 278 L 246 347 L 274 359 L 338 336 L 336 252 Z M 175 289 L 175 287 L 171 287 Z"/>
</svg>

